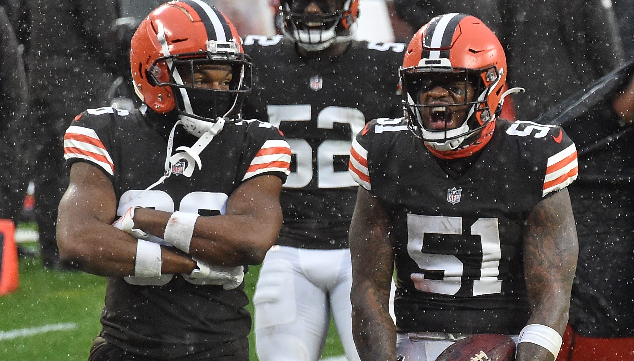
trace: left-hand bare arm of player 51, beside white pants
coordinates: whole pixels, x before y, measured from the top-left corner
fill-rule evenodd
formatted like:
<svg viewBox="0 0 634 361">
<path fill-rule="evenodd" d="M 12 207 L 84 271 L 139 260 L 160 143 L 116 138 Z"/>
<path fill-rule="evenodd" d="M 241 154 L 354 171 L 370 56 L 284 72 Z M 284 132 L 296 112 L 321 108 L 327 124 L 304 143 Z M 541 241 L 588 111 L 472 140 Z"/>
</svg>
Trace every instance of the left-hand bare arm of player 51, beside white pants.
<svg viewBox="0 0 634 361">
<path fill-rule="evenodd" d="M 353 335 L 363 361 L 396 360 L 396 327 L 389 315 L 394 251 L 391 221 L 380 200 L 359 187 L 350 225 Z"/>
</svg>

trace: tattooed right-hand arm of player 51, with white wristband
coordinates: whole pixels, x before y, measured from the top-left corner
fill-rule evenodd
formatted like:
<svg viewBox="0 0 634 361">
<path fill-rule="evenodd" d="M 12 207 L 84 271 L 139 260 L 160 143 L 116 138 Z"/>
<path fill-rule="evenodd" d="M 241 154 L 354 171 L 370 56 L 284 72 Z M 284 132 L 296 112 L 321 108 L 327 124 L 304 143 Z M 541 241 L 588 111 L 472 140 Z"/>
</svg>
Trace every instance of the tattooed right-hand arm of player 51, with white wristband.
<svg viewBox="0 0 634 361">
<path fill-rule="evenodd" d="M 524 226 L 524 274 L 531 318 L 528 324 L 552 327 L 564 334 L 570 292 L 577 265 L 577 231 L 568 190 L 541 200 Z M 517 361 L 552 361 L 545 348 L 523 342 Z"/>
</svg>

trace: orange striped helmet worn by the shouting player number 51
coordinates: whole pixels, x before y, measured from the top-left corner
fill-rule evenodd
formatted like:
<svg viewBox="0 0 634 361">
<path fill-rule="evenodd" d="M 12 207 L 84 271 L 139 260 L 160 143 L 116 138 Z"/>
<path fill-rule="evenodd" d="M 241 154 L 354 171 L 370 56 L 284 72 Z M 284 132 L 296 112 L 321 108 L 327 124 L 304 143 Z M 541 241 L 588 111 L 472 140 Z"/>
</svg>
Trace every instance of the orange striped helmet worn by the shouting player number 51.
<svg viewBox="0 0 634 361">
<path fill-rule="evenodd" d="M 481 20 L 458 13 L 436 16 L 411 39 L 399 72 L 410 129 L 434 155 L 466 157 L 488 143 L 504 96 L 507 61 L 500 41 Z M 467 119 L 458 128 L 423 125 L 421 110 L 434 105 L 420 103 L 420 84 L 438 73 L 463 76 L 475 88 L 471 101 L 450 105 L 467 106 Z"/>
</svg>

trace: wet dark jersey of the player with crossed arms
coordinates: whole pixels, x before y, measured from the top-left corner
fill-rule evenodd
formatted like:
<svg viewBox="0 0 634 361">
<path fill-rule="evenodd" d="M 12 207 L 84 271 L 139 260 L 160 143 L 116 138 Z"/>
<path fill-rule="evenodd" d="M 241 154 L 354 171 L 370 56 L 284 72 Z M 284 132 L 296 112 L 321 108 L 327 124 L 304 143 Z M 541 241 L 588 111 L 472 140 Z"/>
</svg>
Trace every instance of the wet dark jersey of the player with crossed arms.
<svg viewBox="0 0 634 361">
<path fill-rule="evenodd" d="M 226 122 L 200 153 L 202 167 L 190 178 L 183 175 L 187 164 L 177 162 L 167 180 L 141 195 L 164 174 L 167 149 L 164 136 L 146 117 L 139 110 L 90 109 L 75 117 L 65 134 L 68 164 L 87 162 L 112 181 L 117 216 L 136 205 L 224 214 L 231 193 L 245 181 L 264 174 L 287 176 L 290 149 L 278 129 L 259 121 Z M 179 129 L 174 149 L 191 147 L 197 139 Z M 183 275 L 109 277 L 103 337 L 134 355 L 161 360 L 209 351 L 249 334 L 242 288 L 195 284 Z"/>
</svg>

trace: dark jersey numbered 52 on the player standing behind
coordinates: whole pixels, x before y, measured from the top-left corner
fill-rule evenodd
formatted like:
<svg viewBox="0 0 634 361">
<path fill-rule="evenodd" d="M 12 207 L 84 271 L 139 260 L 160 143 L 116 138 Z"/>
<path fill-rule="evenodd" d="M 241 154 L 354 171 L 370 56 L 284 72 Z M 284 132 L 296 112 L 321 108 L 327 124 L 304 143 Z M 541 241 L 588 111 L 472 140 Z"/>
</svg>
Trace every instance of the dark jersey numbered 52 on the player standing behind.
<svg viewBox="0 0 634 361">
<path fill-rule="evenodd" d="M 404 44 L 353 41 L 343 55 L 318 60 L 282 36 L 247 36 L 244 45 L 256 67 L 245 117 L 280 128 L 293 152 L 277 244 L 347 247 L 356 200 L 350 144 L 370 119 L 403 114 L 396 91 Z"/>
</svg>

